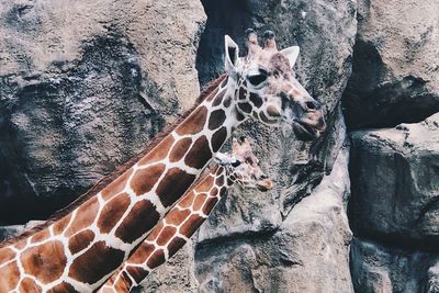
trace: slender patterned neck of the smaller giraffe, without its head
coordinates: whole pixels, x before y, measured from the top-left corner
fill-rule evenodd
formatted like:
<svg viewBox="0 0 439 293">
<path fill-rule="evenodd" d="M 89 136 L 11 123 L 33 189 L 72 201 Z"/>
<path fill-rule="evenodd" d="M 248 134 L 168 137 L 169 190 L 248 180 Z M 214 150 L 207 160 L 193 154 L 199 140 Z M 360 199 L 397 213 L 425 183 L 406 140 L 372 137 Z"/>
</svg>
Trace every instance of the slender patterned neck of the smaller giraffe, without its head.
<svg viewBox="0 0 439 293">
<path fill-rule="evenodd" d="M 226 166 L 211 168 L 210 173 L 180 199 L 99 292 L 130 292 L 138 285 L 191 238 L 235 181 Z"/>
</svg>

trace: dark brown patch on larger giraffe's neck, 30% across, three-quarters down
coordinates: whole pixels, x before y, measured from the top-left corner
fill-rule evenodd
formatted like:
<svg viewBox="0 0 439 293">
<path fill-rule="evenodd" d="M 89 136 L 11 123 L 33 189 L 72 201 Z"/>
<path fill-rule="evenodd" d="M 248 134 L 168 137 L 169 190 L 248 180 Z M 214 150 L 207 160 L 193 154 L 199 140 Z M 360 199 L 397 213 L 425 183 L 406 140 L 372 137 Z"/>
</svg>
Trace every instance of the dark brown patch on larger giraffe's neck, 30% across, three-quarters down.
<svg viewBox="0 0 439 293">
<path fill-rule="evenodd" d="M 133 243 L 150 230 L 160 219 L 160 214 L 148 200 L 137 202 L 123 219 L 115 232 L 115 236 L 124 243 Z"/>
</svg>

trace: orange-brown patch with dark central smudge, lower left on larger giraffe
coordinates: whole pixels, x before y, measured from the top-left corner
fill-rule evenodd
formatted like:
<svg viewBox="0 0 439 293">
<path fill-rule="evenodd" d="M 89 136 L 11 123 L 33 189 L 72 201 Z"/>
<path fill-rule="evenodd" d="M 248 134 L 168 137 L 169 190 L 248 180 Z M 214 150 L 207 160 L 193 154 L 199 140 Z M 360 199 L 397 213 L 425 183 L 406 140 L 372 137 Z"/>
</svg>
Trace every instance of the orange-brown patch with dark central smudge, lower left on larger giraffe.
<svg viewBox="0 0 439 293">
<path fill-rule="evenodd" d="M 63 243 L 52 240 L 24 250 L 21 262 L 26 273 L 46 284 L 61 277 L 67 258 Z"/>
</svg>

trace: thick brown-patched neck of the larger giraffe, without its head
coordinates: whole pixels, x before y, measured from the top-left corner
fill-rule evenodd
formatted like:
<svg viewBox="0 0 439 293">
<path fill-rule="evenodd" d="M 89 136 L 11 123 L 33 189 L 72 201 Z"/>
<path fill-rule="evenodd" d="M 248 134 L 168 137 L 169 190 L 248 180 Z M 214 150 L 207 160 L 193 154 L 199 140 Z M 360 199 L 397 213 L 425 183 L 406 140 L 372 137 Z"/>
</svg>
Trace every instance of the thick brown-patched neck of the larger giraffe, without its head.
<svg viewBox="0 0 439 293">
<path fill-rule="evenodd" d="M 71 213 L 0 248 L 0 292 L 99 288 L 245 120 L 233 102 L 234 84 L 223 81 L 150 153 Z"/>
</svg>

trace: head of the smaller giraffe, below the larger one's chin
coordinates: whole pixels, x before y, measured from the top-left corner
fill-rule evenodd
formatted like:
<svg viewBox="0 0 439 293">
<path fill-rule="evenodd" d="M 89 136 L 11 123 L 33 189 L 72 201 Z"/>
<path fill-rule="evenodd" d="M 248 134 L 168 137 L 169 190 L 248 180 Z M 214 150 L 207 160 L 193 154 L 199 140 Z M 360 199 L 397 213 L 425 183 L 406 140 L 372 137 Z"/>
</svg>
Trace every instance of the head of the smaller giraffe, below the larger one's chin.
<svg viewBox="0 0 439 293">
<path fill-rule="evenodd" d="M 247 138 L 241 137 L 240 143 L 234 138 L 232 156 L 217 154 L 217 158 L 226 167 L 227 176 L 232 181 L 238 182 L 245 188 L 257 188 L 260 191 L 268 191 L 273 188 L 273 182 L 261 170 L 259 159 L 252 153 Z"/>
</svg>

